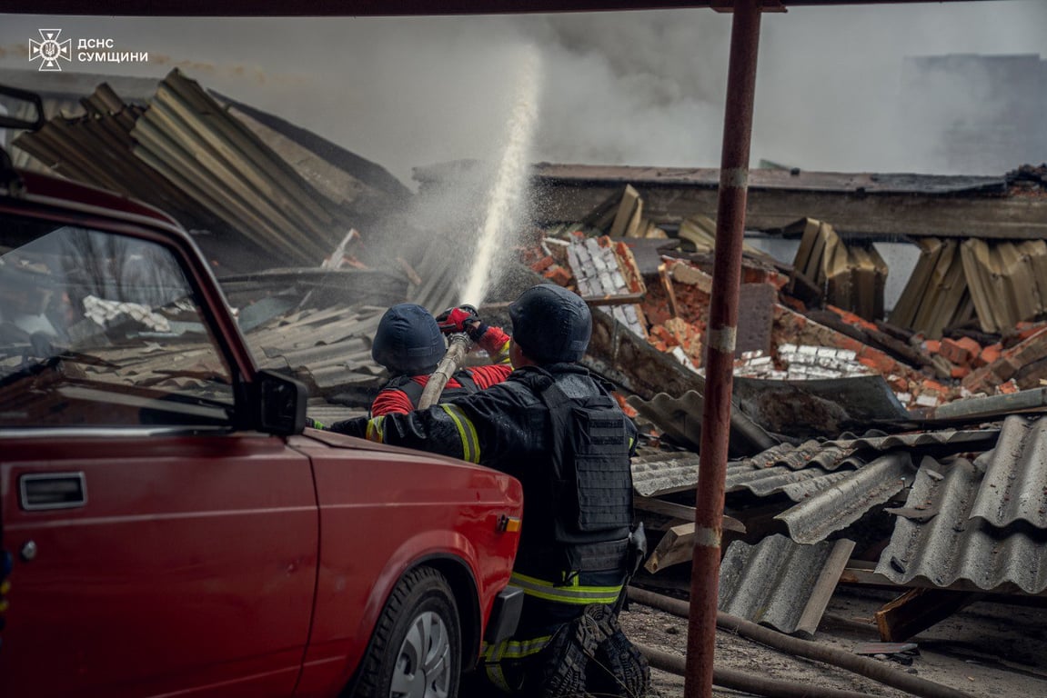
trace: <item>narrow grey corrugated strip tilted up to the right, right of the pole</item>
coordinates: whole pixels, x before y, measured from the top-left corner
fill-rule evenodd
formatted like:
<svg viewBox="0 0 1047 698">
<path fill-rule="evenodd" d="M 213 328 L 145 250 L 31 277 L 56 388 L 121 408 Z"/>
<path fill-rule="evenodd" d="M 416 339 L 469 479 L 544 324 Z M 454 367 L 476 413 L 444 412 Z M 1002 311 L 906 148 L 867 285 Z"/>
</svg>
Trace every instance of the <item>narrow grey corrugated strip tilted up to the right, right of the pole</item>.
<svg viewBox="0 0 1047 698">
<path fill-rule="evenodd" d="M 776 516 L 799 543 L 817 543 L 861 519 L 912 482 L 908 451 L 891 451 Z"/>
</svg>

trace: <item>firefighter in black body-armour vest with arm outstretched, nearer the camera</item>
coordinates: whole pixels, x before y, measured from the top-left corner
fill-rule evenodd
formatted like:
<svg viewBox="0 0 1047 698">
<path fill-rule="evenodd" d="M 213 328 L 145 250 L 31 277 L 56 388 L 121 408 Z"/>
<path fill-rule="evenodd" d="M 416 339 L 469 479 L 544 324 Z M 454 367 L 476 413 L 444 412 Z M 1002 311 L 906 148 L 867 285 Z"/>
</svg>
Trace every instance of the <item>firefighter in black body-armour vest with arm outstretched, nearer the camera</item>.
<svg viewBox="0 0 1047 698">
<path fill-rule="evenodd" d="M 616 615 L 637 563 L 636 427 L 577 363 L 593 330 L 578 295 L 539 285 L 509 314 L 514 370 L 505 382 L 427 410 L 361 418 L 342 431 L 480 463 L 522 482 L 512 581 L 526 593 L 521 622 L 512 638 L 485 647 L 473 679 L 531 698 L 642 696 L 649 670 Z"/>
</svg>

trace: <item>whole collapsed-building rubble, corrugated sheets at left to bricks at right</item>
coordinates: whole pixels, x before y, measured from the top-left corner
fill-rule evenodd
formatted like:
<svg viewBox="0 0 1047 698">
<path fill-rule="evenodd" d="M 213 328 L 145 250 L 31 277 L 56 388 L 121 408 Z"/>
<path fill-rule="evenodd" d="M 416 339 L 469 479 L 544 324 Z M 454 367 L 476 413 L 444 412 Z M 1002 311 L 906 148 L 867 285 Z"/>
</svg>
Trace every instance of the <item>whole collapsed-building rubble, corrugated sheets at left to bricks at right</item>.
<svg viewBox="0 0 1047 698">
<path fill-rule="evenodd" d="M 170 99 L 193 107 L 199 129 L 154 129 L 164 127 L 163 138 L 186 143 L 186 152 L 208 155 L 209 166 L 146 157 L 135 139 L 146 140 L 155 107 L 125 104 L 104 88 L 89 100 L 89 117 L 59 117 L 17 142 L 67 177 L 153 201 L 199 228 L 258 363 L 302 379 L 314 418 L 363 413 L 384 381 L 370 356 L 381 312 L 405 300 L 433 311 L 460 302 L 460 256 L 440 248 L 439 235 L 404 244 L 405 226 L 392 225 L 391 211 L 403 208 L 409 193 L 373 163 L 219 100 L 177 71 L 163 86 Z M 99 140 L 96 123 L 126 137 L 115 145 Z M 138 176 L 99 178 L 92 163 L 109 161 Z M 154 186 L 156 166 L 171 175 L 162 187 Z M 547 212 L 597 196 L 579 192 L 577 173 L 565 179 L 570 165 L 538 170 Z M 648 189 L 653 203 L 615 180 L 618 192 L 591 210 L 542 222 L 507 275 L 525 288 L 541 278 L 572 288 L 594 309 L 584 362 L 617 386 L 619 403 L 642 428 L 633 486 L 652 551 L 637 581 L 672 587 L 667 580 L 687 567 L 681 563 L 690 561 L 695 535 L 713 290 L 716 226 L 695 212 L 696 202 L 714 199 L 718 177 L 688 171 L 655 179 L 659 186 Z M 953 594 L 954 608 L 976 594 L 1043 594 L 1047 242 L 1037 239 L 1037 211 L 1047 196 L 1047 165 L 1024 165 L 1002 184 L 939 182 L 944 201 L 919 193 L 926 237 L 915 240 L 919 258 L 890 312 L 890 270 L 868 240 L 842 235 L 833 221 L 778 220 L 787 208 L 783 190 L 792 196 L 803 182 L 807 193 L 839 189 L 839 176 L 757 179 L 765 180 L 761 196 L 774 205 L 751 220 L 766 221 L 761 231 L 774 228 L 799 248 L 787 264 L 756 245 L 743 247 L 720 580 L 729 591 L 721 605 L 730 601 L 752 609 L 744 611 L 749 620 L 809 634 L 841 582 L 893 587 L 903 595 L 877 613 L 886 641 L 940 618 L 921 613 L 921 605 L 937 605 L 935 594 Z M 896 197 L 914 208 L 904 176 L 851 179 L 861 196 L 842 189 L 847 206 L 832 210 L 851 219 L 841 229 L 868 232 L 857 219 L 875 218 L 870 211 Z M 257 180 L 274 184 L 258 187 Z M 554 180 L 569 182 L 570 197 L 553 202 Z M 669 188 L 683 180 L 688 196 Z M 221 196 L 203 196 L 209 192 Z M 971 196 L 981 218 L 964 209 L 958 223 L 953 196 Z M 1003 199 L 1007 207 L 997 208 Z M 979 234 L 993 234 L 949 237 L 950 226 L 976 224 Z M 1028 234 L 1007 239 L 1016 226 Z M 374 264 L 383 237 L 403 255 L 395 264 Z M 249 261 L 240 258 L 245 249 Z M 488 299 L 482 314 L 497 317 L 500 301 L 511 299 L 506 293 L 510 298 Z M 169 366 L 172 358 L 141 361 Z M 768 579 L 772 568 L 779 572 Z M 785 605 L 802 609 L 803 622 Z M 773 620 L 786 617 L 793 620 Z"/>
</svg>

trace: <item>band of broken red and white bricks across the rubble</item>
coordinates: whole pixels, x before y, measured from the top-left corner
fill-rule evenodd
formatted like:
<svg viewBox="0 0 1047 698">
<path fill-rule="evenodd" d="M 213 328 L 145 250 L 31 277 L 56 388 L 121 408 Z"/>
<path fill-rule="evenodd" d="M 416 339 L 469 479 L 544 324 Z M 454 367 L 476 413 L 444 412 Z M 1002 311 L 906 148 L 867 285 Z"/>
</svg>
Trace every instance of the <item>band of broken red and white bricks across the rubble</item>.
<svg viewBox="0 0 1047 698">
<path fill-rule="evenodd" d="M 584 233 L 574 231 L 570 235 L 580 239 Z M 628 249 L 628 242 L 607 237 L 600 238 L 599 244 L 612 247 L 620 256 Z M 575 287 L 566 246 L 562 242 L 521 248 L 519 256 L 545 278 L 560 286 Z M 623 276 L 633 292 L 643 288 L 641 284 L 646 282 L 639 310 L 646 318 L 650 343 L 662 352 L 678 347 L 700 367 L 711 277 L 708 269 L 697 262 L 671 256 L 663 260 L 660 277 L 629 278 L 625 272 L 634 268 L 629 265 L 623 265 Z M 999 338 L 954 334 L 935 340 L 919 333 L 885 329 L 883 323 L 824 302 L 818 309 L 821 314 L 815 319 L 807 302 L 787 293 L 786 273 L 751 264 L 748 257 L 745 262 L 743 283 L 766 283 L 778 289 L 778 301 L 773 309 L 770 361 L 762 358 L 755 361 L 768 369 L 785 371 L 788 368 L 780 347 L 831 347 L 842 353 L 839 356 L 846 355 L 846 360 L 855 364 L 855 370 L 882 375 L 904 403 L 926 407 L 975 393 L 1006 393 L 1047 384 L 1043 380 L 1047 378 L 1047 322 L 1021 322 Z M 678 280 L 680 274 L 672 273 L 676 265 L 687 267 L 690 275 L 706 277 L 706 287 L 701 283 Z M 887 340 L 884 339 L 886 334 L 891 334 Z M 738 370 L 744 371 L 750 362 L 754 362 L 753 356 L 739 357 Z"/>
</svg>

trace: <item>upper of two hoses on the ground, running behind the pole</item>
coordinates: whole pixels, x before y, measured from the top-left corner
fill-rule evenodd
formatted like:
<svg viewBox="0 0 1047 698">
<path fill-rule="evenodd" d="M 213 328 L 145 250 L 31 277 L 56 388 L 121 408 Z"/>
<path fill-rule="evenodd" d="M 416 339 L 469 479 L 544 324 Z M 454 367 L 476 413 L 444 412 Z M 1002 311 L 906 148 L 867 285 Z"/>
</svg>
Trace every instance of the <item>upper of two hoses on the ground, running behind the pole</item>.
<svg viewBox="0 0 1047 698">
<path fill-rule="evenodd" d="M 690 616 L 690 604 L 686 601 L 672 599 L 664 594 L 654 593 L 653 591 L 647 591 L 646 589 L 638 589 L 633 586 L 628 588 L 628 598 L 638 604 L 658 608 L 674 615 L 685 618 Z M 716 612 L 716 627 L 798 657 L 815 659 L 846 669 L 885 685 L 905 691 L 914 696 L 921 696 L 921 698 L 977 698 L 970 693 L 951 689 L 941 683 L 913 676 L 912 674 L 905 674 L 875 659 L 853 655 L 849 652 L 818 645 L 809 640 L 798 639 L 780 633 L 777 630 L 771 630 L 744 618 L 725 613 L 723 611 Z"/>
</svg>

